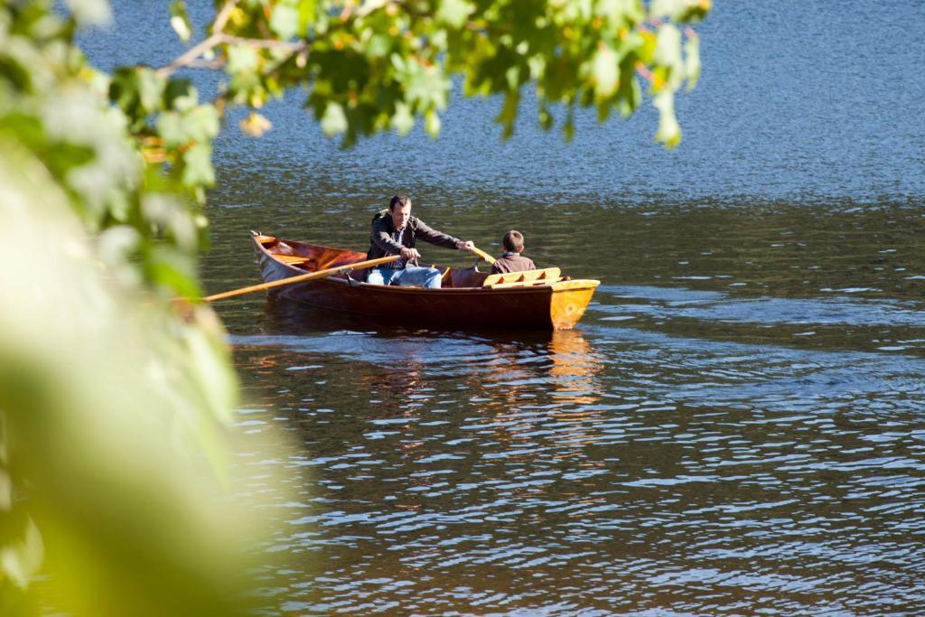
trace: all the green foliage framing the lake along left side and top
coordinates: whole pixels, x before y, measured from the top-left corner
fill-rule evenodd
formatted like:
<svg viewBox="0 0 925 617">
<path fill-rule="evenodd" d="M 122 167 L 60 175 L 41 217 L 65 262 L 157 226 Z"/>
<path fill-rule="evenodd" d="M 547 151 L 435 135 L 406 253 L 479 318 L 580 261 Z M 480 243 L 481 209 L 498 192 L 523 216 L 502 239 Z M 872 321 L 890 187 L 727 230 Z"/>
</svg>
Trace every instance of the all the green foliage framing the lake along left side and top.
<svg viewBox="0 0 925 617">
<path fill-rule="evenodd" d="M 288 89 L 330 136 L 418 122 L 436 137 L 460 76 L 522 88 L 546 129 L 574 108 L 631 115 L 680 142 L 673 97 L 700 71 L 709 0 L 230 0 L 162 68 L 90 67 L 74 43 L 105 0 L 0 4 L 0 614 L 233 614 L 260 525 L 228 499 L 237 404 L 224 331 L 199 298 L 212 143 Z M 165 10 L 184 41 L 186 5 Z M 203 102 L 180 69 L 224 71 Z M 247 537 L 248 542 L 240 542 Z"/>
</svg>

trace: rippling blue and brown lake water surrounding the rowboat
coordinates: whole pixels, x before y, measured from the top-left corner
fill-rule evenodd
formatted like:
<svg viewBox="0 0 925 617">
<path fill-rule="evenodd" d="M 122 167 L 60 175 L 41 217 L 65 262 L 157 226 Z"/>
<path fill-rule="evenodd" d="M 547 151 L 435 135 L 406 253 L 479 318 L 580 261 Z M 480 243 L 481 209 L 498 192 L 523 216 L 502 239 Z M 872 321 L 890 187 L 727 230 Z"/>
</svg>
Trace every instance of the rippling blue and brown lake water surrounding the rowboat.
<svg viewBox="0 0 925 617">
<path fill-rule="evenodd" d="M 176 56 L 150 4 L 91 58 Z M 672 153 L 649 111 L 502 143 L 494 101 L 341 152 L 302 94 L 222 138 L 209 290 L 257 280 L 252 228 L 364 250 L 399 189 L 602 281 L 551 334 L 221 304 L 242 430 L 292 438 L 240 456 L 298 496 L 266 511 L 268 612 L 925 614 L 925 6 L 718 5 Z"/>
</svg>

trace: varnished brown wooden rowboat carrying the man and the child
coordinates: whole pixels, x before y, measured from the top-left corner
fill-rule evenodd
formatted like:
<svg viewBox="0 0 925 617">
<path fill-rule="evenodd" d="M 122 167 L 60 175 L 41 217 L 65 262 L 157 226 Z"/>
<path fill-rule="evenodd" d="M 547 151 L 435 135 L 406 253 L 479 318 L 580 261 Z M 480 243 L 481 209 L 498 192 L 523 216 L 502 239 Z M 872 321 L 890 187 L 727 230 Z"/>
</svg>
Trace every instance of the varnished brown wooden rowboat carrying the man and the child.
<svg viewBox="0 0 925 617">
<path fill-rule="evenodd" d="M 265 282 L 365 260 L 365 253 L 282 240 L 252 232 Z M 437 266 L 441 289 L 371 285 L 363 270 L 315 278 L 272 293 L 313 306 L 387 322 L 442 327 L 565 329 L 585 314 L 598 280 L 561 277 L 559 268 L 488 275 L 475 268 Z"/>
</svg>

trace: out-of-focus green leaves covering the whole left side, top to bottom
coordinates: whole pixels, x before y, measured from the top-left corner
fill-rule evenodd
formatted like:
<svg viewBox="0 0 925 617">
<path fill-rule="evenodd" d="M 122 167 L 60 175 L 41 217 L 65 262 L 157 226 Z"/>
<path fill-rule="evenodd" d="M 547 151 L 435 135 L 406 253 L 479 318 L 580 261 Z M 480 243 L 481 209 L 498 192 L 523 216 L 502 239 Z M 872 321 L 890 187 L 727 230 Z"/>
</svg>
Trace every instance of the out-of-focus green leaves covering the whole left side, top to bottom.
<svg viewBox="0 0 925 617">
<path fill-rule="evenodd" d="M 237 379 L 213 311 L 170 302 L 199 295 L 216 110 L 89 68 L 106 5 L 70 4 L 0 6 L 0 614 L 246 612 Z"/>
</svg>

